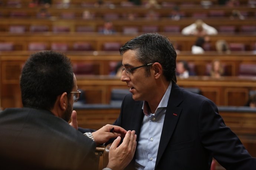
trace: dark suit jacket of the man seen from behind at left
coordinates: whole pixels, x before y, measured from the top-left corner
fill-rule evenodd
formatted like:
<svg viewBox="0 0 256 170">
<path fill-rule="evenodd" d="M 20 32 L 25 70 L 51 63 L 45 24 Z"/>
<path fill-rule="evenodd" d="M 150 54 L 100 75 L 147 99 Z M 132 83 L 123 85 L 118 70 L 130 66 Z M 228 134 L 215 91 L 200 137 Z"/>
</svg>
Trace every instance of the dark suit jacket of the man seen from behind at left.
<svg viewBox="0 0 256 170">
<path fill-rule="evenodd" d="M 50 111 L 0 112 L 0 169 L 98 169 L 96 143 Z"/>
</svg>

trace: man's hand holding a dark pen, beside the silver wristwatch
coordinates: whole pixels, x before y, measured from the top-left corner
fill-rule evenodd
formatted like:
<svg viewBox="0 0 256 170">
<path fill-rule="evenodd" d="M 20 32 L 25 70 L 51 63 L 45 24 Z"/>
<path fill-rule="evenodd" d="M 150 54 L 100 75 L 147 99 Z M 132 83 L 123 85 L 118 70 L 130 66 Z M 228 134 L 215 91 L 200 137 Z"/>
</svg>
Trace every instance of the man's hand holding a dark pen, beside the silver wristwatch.
<svg viewBox="0 0 256 170">
<path fill-rule="evenodd" d="M 112 128 L 114 128 L 113 132 L 111 132 Z M 97 145 L 108 142 L 111 138 L 116 138 L 118 136 L 124 137 L 126 134 L 126 130 L 114 125 L 105 125 L 101 129 L 92 132 L 92 136 Z"/>
</svg>

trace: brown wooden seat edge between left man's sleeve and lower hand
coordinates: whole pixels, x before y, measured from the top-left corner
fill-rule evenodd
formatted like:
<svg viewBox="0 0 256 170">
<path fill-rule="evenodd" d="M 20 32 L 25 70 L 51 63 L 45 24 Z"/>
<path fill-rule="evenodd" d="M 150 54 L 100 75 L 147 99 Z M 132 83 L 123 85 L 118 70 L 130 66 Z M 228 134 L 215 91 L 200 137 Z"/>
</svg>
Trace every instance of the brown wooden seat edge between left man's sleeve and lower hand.
<svg viewBox="0 0 256 170">
<path fill-rule="evenodd" d="M 95 155 L 99 156 L 99 170 L 102 170 L 108 165 L 108 153 L 109 147 L 112 143 L 109 143 L 107 146 L 97 146 L 95 150 Z"/>
</svg>

